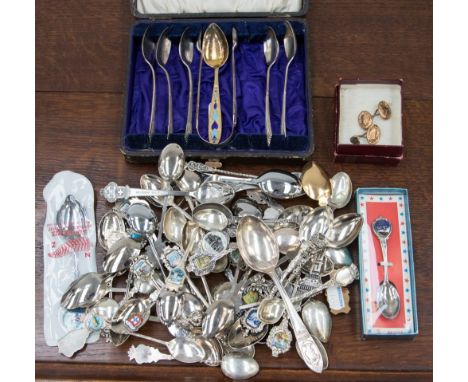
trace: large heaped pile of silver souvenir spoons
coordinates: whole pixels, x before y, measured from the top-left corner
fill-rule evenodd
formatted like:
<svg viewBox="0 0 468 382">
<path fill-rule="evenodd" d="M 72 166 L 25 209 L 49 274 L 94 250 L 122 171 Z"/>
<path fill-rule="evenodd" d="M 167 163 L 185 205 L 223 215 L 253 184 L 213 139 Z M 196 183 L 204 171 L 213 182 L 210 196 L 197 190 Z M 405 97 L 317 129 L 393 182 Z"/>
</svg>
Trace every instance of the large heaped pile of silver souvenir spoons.
<svg viewBox="0 0 468 382">
<path fill-rule="evenodd" d="M 141 188 L 109 183 L 101 190 L 114 203 L 99 224 L 104 272 L 82 275 L 63 295 L 62 307 L 87 315 L 85 328 L 65 336 L 60 351 L 71 356 L 93 331 L 116 346 L 136 336 L 169 353 L 132 346 L 130 359 L 138 363 L 202 362 L 245 379 L 259 370 L 255 344 L 266 343 L 276 357 L 295 341 L 311 370 L 325 370 L 331 316 L 313 298 L 358 277 L 346 246 L 362 218 L 335 216 L 352 195 L 348 175 L 329 179 L 314 162 L 300 174 L 232 173 L 186 163 L 176 144 L 165 147 L 158 170 L 141 177 Z M 304 193 L 316 208 L 279 202 Z M 112 288 L 125 273 L 127 287 Z M 119 302 L 108 297 L 117 292 L 124 293 Z M 147 321 L 165 325 L 174 339 L 138 333 Z"/>
</svg>

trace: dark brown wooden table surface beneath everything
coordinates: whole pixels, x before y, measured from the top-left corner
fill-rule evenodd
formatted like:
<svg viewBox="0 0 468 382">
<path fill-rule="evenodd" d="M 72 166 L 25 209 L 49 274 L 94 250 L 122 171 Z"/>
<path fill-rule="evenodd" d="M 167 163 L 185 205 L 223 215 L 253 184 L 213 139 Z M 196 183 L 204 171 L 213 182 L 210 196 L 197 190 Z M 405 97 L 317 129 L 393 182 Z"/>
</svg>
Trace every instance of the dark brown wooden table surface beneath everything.
<svg viewBox="0 0 468 382">
<path fill-rule="evenodd" d="M 227 380 L 219 368 L 130 363 L 121 348 L 99 342 L 72 359 L 47 347 L 43 336 L 42 190 L 61 170 L 90 179 L 95 190 L 115 180 L 137 185 L 156 165 L 127 163 L 119 151 L 126 81 L 128 32 L 134 22 L 127 0 L 36 2 L 36 375 L 40 379 Z M 414 340 L 361 339 L 359 291 L 352 311 L 333 317 L 326 345 L 330 368 L 315 375 L 294 350 L 273 358 L 257 346 L 261 372 L 254 380 L 425 381 L 432 379 L 432 2 L 426 0 L 313 0 L 310 27 L 316 151 L 327 172 L 347 172 L 355 187 L 409 189 L 420 334 Z M 339 77 L 404 79 L 405 158 L 398 166 L 333 162 L 334 85 Z M 249 161 L 251 162 L 251 161 Z M 253 162 L 253 161 L 252 161 Z M 273 163 L 274 162 L 274 163 Z M 291 160 L 242 163 L 224 168 L 260 173 L 278 167 L 298 171 Z M 96 194 L 97 195 L 97 194 Z M 306 200 L 302 200 L 306 202 Z M 97 197 L 96 218 L 108 210 Z M 356 246 L 351 247 L 354 258 Z M 98 264 L 104 252 L 98 248 Z M 148 324 L 145 333 L 169 338 Z"/>
</svg>

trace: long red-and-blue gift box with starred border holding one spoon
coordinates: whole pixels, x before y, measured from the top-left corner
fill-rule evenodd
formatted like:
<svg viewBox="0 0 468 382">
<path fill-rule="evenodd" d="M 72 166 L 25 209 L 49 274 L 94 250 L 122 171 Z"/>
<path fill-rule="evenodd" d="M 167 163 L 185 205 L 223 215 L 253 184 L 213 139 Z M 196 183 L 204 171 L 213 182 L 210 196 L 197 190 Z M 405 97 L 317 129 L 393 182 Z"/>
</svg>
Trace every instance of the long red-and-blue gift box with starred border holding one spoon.
<svg viewBox="0 0 468 382">
<path fill-rule="evenodd" d="M 413 337 L 418 317 L 407 190 L 359 188 L 356 203 L 364 219 L 359 234 L 363 336 Z"/>
</svg>

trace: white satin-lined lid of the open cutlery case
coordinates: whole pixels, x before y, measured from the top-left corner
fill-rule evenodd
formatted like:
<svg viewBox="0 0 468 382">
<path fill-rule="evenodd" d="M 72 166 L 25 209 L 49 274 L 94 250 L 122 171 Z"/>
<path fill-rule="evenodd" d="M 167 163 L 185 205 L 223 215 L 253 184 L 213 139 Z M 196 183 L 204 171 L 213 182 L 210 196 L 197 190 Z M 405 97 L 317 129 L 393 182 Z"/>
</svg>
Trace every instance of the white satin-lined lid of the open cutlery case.
<svg viewBox="0 0 468 382">
<path fill-rule="evenodd" d="M 145 19 L 304 16 L 306 0 L 131 0 L 132 13 Z"/>
</svg>

